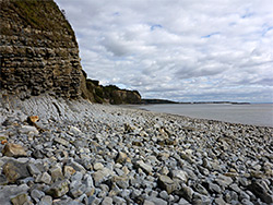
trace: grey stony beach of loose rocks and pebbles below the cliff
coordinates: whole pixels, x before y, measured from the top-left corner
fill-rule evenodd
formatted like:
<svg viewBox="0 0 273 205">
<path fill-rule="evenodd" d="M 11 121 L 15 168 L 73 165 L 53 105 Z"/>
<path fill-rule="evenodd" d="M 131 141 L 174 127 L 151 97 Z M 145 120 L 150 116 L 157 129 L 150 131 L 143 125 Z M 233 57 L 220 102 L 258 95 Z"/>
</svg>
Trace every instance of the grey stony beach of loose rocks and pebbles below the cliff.
<svg viewBox="0 0 273 205">
<path fill-rule="evenodd" d="M 50 96 L 0 119 L 1 205 L 273 203 L 272 128 Z"/>
</svg>

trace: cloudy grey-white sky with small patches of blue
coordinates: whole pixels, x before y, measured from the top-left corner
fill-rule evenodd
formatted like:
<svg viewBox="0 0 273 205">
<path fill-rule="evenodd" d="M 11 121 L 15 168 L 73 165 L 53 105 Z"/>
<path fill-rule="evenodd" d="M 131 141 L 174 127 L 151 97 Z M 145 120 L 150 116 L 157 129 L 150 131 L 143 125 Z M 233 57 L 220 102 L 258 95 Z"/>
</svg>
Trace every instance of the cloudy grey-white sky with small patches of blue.
<svg viewBox="0 0 273 205">
<path fill-rule="evenodd" d="M 273 101 L 273 0 L 56 0 L 102 85 L 177 101 Z"/>
</svg>

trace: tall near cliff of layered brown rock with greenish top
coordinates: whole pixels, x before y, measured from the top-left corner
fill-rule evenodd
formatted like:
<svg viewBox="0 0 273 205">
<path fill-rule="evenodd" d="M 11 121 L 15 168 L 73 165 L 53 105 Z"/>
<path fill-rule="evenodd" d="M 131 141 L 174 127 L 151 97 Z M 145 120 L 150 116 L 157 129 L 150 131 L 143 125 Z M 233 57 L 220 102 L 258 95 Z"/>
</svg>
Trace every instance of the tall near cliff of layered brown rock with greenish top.
<svg viewBox="0 0 273 205">
<path fill-rule="evenodd" d="M 58 5 L 0 0 L 0 88 L 21 98 L 81 96 L 85 79 L 75 35 Z"/>
</svg>

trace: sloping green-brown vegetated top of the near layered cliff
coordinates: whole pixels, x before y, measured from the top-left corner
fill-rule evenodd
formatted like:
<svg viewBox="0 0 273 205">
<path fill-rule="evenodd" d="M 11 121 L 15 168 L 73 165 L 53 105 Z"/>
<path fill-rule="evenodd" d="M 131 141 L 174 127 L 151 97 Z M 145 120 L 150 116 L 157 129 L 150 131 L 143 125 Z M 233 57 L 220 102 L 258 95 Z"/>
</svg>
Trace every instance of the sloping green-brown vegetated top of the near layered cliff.
<svg viewBox="0 0 273 205">
<path fill-rule="evenodd" d="M 13 22 L 17 26 L 31 26 L 32 28 L 54 33 L 66 31 L 74 38 L 71 25 L 54 0 L 1 1 L 0 8 L 0 15 L 3 22 Z"/>
</svg>

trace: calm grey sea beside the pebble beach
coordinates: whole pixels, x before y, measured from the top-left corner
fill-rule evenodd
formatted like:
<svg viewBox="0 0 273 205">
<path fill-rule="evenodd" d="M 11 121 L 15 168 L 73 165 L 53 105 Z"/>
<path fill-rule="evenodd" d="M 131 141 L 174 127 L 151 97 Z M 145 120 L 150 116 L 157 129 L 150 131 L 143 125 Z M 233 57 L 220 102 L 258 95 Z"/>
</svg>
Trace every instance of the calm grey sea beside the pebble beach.
<svg viewBox="0 0 273 205">
<path fill-rule="evenodd" d="M 138 107 L 155 112 L 273 128 L 273 104 L 155 104 Z"/>
</svg>

